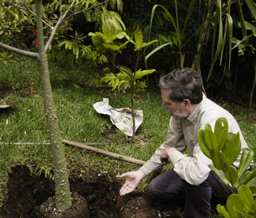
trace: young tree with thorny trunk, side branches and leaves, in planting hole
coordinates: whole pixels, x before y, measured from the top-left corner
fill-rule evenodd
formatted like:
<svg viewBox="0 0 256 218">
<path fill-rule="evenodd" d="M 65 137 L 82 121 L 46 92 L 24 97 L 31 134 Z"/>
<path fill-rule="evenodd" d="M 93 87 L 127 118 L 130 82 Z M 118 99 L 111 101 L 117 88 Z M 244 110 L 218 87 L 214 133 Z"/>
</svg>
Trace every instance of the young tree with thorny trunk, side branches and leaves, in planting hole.
<svg viewBox="0 0 256 218">
<path fill-rule="evenodd" d="M 52 162 L 54 164 L 54 180 L 56 188 L 56 208 L 58 210 L 66 210 L 72 206 L 71 196 L 70 196 L 70 187 L 68 182 L 68 172 L 67 172 L 67 163 L 65 159 L 65 152 L 63 149 L 63 144 L 61 143 L 61 133 L 60 127 L 58 125 L 57 112 L 54 106 L 54 99 L 52 95 L 51 81 L 49 76 L 49 68 L 47 61 L 47 50 L 50 47 L 52 40 L 54 39 L 54 34 L 56 33 L 58 27 L 62 22 L 76 15 L 77 13 L 82 13 L 88 9 L 102 8 L 104 13 L 102 13 L 102 18 L 112 17 L 115 19 L 115 14 L 111 15 L 106 10 L 105 6 L 110 3 L 111 7 L 115 6 L 115 3 L 118 3 L 118 7 L 122 7 L 122 1 L 104 1 L 104 3 L 98 3 L 97 1 L 68 1 L 70 4 L 63 4 L 62 1 L 56 2 L 53 1 L 51 6 L 54 8 L 60 9 L 60 17 L 56 22 L 50 25 L 42 18 L 42 11 L 44 8 L 42 6 L 42 0 L 36 0 L 36 4 L 33 4 L 33 1 L 26 1 L 29 5 L 23 5 L 23 1 L 16 1 L 14 4 L 13 1 L 5 1 L 0 3 L 1 8 L 4 10 L 5 16 L 14 17 L 15 20 L 19 20 L 20 13 L 22 11 L 28 11 L 29 15 L 36 17 L 36 29 L 37 29 L 37 40 L 38 40 L 38 52 L 29 52 L 26 50 L 21 50 L 19 48 L 12 47 L 0 42 L 0 47 L 5 50 L 10 50 L 20 55 L 26 55 L 28 57 L 34 58 L 38 61 L 39 71 L 40 71 L 40 82 L 42 85 L 42 96 L 44 101 L 44 113 L 47 122 L 47 129 L 49 134 L 49 140 L 51 144 L 52 152 Z M 8 6 L 8 7 L 7 7 Z M 83 6 L 83 7 L 81 7 Z M 77 11 L 79 7 L 79 11 Z M 36 8 L 35 11 L 32 8 Z M 75 11 L 75 12 L 74 12 Z M 15 13 L 17 12 L 17 13 Z M 45 17 L 45 16 L 44 16 Z M 54 17 L 56 19 L 56 17 Z M 52 18 L 52 20 L 54 20 Z M 49 18 L 51 20 L 51 18 Z M 46 44 L 44 43 L 43 36 L 43 25 L 48 25 L 51 27 L 51 36 L 48 38 Z"/>
</svg>

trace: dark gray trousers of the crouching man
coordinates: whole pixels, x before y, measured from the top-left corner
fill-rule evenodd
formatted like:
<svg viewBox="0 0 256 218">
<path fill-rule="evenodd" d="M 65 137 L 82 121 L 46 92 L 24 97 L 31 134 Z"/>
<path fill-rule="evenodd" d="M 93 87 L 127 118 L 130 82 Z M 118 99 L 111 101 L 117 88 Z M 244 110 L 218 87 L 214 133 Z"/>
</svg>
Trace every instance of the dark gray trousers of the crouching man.
<svg viewBox="0 0 256 218">
<path fill-rule="evenodd" d="M 148 192 L 158 200 L 184 205 L 184 218 L 210 217 L 211 207 L 216 208 L 218 201 L 221 201 L 221 205 L 223 201 L 225 204 L 228 196 L 233 193 L 212 171 L 202 184 L 196 186 L 180 178 L 173 169 L 154 178 Z"/>
</svg>

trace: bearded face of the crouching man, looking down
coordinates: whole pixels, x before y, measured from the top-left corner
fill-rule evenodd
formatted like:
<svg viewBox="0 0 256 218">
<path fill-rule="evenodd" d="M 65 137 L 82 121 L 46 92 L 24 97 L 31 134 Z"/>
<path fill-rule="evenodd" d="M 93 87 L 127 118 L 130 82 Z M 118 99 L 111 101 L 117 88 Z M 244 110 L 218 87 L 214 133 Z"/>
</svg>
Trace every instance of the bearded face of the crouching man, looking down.
<svg viewBox="0 0 256 218">
<path fill-rule="evenodd" d="M 163 108 L 173 115 L 176 119 L 186 119 L 188 113 L 184 110 L 184 103 L 176 103 L 169 99 L 170 91 L 161 89 Z"/>
</svg>

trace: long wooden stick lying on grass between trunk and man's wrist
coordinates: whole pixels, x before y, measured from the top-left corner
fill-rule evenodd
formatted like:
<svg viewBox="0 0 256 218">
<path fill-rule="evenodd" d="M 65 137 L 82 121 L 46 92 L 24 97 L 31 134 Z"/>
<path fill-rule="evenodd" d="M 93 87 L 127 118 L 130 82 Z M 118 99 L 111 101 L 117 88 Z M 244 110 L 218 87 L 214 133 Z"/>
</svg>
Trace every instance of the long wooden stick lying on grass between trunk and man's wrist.
<svg viewBox="0 0 256 218">
<path fill-rule="evenodd" d="M 79 147 L 79 148 L 82 148 L 82 149 L 92 150 L 96 153 L 104 154 L 104 155 L 109 156 L 109 157 L 115 157 L 115 158 L 120 159 L 122 161 L 127 161 L 127 162 L 131 162 L 131 163 L 139 164 L 139 165 L 144 165 L 146 163 L 145 161 L 141 161 L 141 160 L 138 160 L 138 159 L 134 159 L 132 157 L 127 157 L 127 156 L 123 156 L 121 154 L 116 154 L 116 153 L 113 153 L 113 152 L 109 152 L 108 150 L 97 149 L 95 147 L 85 145 L 84 143 L 72 142 L 72 141 L 64 140 L 64 139 L 62 139 L 61 142 L 65 143 L 65 144 L 68 144 L 68 145 L 73 145 L 73 146 L 76 146 L 76 147 Z"/>
</svg>

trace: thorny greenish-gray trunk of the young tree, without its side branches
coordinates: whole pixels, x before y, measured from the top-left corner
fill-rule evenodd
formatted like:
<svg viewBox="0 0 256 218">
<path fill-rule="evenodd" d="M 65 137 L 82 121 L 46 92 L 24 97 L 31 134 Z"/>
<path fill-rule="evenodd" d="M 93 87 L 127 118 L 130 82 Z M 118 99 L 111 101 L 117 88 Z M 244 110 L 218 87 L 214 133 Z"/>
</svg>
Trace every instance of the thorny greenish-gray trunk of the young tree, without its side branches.
<svg viewBox="0 0 256 218">
<path fill-rule="evenodd" d="M 39 52 L 40 81 L 44 99 L 44 112 L 51 144 L 52 162 L 54 164 L 54 181 L 56 191 L 56 208 L 66 210 L 72 206 L 68 183 L 67 163 L 63 144 L 61 143 L 60 127 L 52 96 L 47 55 L 44 47 L 42 26 L 42 0 L 36 0 L 36 28 Z"/>
</svg>

